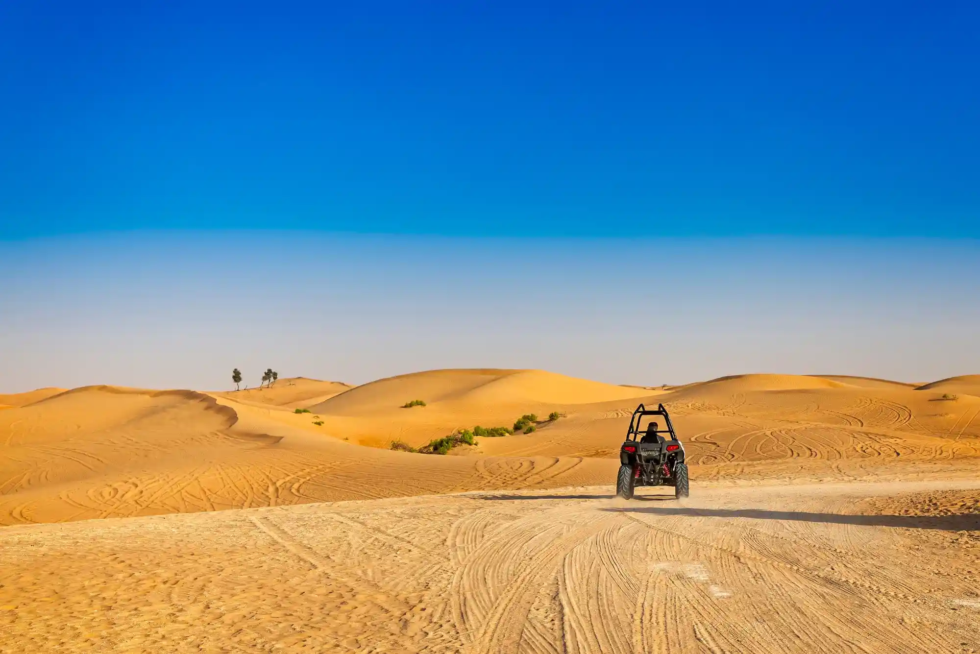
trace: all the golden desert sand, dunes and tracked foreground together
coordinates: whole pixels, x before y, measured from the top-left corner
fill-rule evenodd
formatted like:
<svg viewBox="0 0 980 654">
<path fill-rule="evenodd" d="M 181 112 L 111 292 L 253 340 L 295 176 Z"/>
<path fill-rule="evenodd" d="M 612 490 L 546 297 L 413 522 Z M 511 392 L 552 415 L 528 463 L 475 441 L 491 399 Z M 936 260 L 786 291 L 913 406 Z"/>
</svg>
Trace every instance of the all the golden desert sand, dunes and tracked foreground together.
<svg viewBox="0 0 980 654">
<path fill-rule="evenodd" d="M 687 500 L 612 496 L 641 401 L 674 418 Z M 977 375 L 436 370 L 0 404 L 0 652 L 980 650 Z M 389 449 L 524 413 L 532 434 Z"/>
</svg>

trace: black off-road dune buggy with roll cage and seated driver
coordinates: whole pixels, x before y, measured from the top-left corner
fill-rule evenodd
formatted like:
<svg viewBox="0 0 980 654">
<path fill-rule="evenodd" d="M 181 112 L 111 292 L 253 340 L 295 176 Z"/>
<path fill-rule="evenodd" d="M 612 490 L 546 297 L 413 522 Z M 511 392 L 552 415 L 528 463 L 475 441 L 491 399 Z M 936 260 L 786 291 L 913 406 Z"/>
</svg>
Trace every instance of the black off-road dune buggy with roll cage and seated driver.
<svg viewBox="0 0 980 654">
<path fill-rule="evenodd" d="M 662 417 L 666 429 L 654 417 Z M 638 486 L 672 486 L 675 497 L 688 496 L 684 445 L 677 440 L 663 404 L 656 410 L 640 404 L 633 411 L 626 440 L 619 448 L 619 463 L 615 493 L 620 497 L 630 499 Z"/>
</svg>

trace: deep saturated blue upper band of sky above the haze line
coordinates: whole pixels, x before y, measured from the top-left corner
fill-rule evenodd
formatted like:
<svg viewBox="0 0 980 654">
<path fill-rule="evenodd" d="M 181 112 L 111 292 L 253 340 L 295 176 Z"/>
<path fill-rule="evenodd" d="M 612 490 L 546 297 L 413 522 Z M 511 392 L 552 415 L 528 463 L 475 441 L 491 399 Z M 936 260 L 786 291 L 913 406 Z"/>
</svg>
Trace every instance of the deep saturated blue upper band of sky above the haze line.
<svg viewBox="0 0 980 654">
<path fill-rule="evenodd" d="M 976 2 L 0 3 L 0 239 L 980 237 Z"/>
</svg>

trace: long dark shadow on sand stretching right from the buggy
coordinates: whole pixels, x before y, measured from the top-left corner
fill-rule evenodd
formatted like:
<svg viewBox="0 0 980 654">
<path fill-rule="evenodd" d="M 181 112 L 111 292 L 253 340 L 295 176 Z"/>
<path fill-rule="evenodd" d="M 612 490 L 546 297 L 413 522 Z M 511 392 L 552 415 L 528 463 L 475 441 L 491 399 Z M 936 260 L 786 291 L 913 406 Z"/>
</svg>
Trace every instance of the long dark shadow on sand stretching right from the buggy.
<svg viewBox="0 0 980 654">
<path fill-rule="evenodd" d="M 752 518 L 756 520 L 794 520 L 822 522 L 831 525 L 860 525 L 865 527 L 904 527 L 906 529 L 935 529 L 947 532 L 980 530 L 980 513 L 957 513 L 946 516 L 842 515 L 840 513 L 809 513 L 807 511 L 769 511 L 766 509 L 696 509 L 687 507 L 606 507 L 603 511 L 645 513 L 657 516 L 688 518 Z"/>
</svg>

